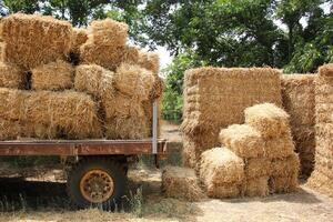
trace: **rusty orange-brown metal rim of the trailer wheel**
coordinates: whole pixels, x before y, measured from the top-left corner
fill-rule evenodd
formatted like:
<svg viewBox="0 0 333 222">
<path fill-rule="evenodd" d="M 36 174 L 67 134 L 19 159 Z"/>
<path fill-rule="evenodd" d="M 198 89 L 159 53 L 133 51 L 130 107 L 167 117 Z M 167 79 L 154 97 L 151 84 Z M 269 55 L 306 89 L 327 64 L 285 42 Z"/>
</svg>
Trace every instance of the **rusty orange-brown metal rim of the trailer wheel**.
<svg viewBox="0 0 333 222">
<path fill-rule="evenodd" d="M 80 181 L 81 194 L 92 203 L 102 203 L 109 200 L 113 191 L 113 179 L 103 170 L 88 171 Z"/>
</svg>

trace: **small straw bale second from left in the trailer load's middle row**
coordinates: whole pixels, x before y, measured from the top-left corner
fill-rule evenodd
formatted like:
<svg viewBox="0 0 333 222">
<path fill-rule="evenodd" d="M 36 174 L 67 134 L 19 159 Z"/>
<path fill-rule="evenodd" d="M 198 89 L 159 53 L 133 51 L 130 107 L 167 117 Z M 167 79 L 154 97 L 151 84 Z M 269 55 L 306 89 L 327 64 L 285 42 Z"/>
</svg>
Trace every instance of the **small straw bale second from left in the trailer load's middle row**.
<svg viewBox="0 0 333 222">
<path fill-rule="evenodd" d="M 62 60 L 41 64 L 31 70 L 33 90 L 65 90 L 73 87 L 74 68 Z"/>
</svg>

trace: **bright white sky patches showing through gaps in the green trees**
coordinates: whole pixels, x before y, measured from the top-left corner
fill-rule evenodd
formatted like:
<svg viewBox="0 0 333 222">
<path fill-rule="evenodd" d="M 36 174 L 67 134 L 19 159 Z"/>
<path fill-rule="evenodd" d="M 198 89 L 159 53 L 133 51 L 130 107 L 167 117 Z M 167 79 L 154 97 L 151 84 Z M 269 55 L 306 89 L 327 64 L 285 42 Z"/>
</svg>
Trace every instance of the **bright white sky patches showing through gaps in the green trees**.
<svg viewBox="0 0 333 222">
<path fill-rule="evenodd" d="M 325 13 L 330 12 L 330 2 L 326 2 L 321 6 Z M 286 31 L 285 24 L 283 24 L 280 20 L 275 20 L 274 23 L 280 27 L 282 30 Z M 303 18 L 301 19 L 302 26 L 306 26 L 306 20 Z M 171 62 L 173 57 L 170 56 L 165 47 L 158 47 L 157 52 L 160 56 L 160 65 L 161 69 L 167 68 Z"/>
</svg>

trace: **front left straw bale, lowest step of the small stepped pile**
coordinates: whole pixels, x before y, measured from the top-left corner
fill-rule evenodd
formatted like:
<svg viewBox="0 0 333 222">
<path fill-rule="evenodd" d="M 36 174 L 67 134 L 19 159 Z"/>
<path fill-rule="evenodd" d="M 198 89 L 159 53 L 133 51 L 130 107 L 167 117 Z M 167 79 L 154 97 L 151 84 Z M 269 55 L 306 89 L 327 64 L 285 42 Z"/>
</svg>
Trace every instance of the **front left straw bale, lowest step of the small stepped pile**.
<svg viewBox="0 0 333 222">
<path fill-rule="evenodd" d="M 199 175 L 210 198 L 241 194 L 244 162 L 226 148 L 213 148 L 201 154 Z"/>
</svg>

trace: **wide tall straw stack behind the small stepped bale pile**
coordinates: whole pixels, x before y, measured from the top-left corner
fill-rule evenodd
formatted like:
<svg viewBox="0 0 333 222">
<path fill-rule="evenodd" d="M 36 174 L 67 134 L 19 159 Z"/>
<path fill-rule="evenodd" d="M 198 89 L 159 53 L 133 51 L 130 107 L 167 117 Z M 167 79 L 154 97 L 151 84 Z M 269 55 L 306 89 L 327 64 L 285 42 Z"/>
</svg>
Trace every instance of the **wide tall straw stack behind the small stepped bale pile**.
<svg viewBox="0 0 333 222">
<path fill-rule="evenodd" d="M 191 168 L 206 149 L 219 145 L 219 132 L 243 123 L 243 110 L 261 102 L 281 105 L 280 72 L 269 68 L 200 68 L 185 72 L 184 164 Z"/>
</svg>

